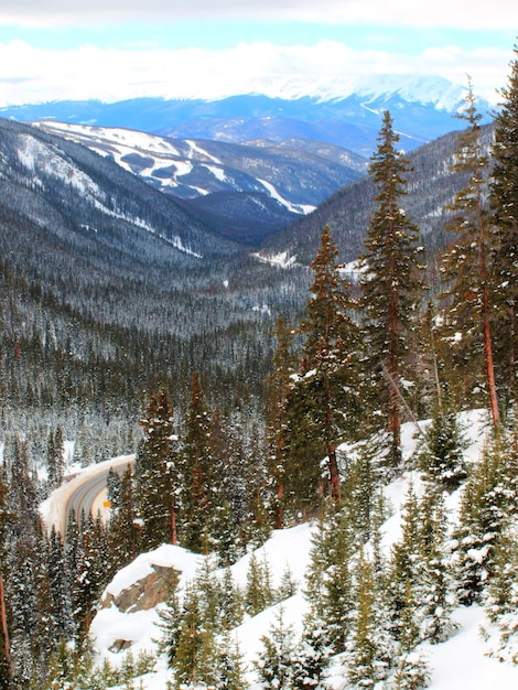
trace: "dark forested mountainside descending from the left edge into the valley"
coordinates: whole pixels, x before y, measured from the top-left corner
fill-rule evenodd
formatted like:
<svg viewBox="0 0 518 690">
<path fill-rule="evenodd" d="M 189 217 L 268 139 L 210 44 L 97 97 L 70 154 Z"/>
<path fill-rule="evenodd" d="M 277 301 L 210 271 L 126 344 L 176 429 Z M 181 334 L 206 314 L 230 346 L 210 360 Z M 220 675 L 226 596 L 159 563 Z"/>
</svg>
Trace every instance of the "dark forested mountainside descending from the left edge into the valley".
<svg viewBox="0 0 518 690">
<path fill-rule="evenodd" d="M 3 423 L 60 419 L 96 459 L 122 450 L 157 381 L 182 405 L 199 369 L 234 391 L 224 406 L 257 400 L 271 315 L 299 309 L 303 272 L 288 281 L 85 147 L 13 122 L 0 136 Z"/>
</svg>

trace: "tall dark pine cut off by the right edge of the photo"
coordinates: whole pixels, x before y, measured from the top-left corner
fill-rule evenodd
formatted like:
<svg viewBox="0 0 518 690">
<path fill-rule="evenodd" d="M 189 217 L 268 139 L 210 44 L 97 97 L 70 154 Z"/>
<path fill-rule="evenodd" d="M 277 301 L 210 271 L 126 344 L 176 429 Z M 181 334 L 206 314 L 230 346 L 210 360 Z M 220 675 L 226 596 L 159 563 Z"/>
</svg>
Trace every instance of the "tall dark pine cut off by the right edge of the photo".
<svg viewBox="0 0 518 690">
<path fill-rule="evenodd" d="M 516 400 L 518 356 L 518 47 L 495 116 L 494 168 L 489 185 L 496 242 L 493 256 L 496 320 L 495 363 L 505 402 Z"/>
</svg>

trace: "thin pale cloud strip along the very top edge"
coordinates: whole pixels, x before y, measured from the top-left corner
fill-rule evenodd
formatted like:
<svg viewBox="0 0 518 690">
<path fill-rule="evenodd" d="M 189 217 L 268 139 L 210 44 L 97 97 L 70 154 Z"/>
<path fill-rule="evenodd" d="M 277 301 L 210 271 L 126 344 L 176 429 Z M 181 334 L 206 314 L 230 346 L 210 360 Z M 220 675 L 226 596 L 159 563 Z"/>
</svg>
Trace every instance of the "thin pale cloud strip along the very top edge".
<svg viewBox="0 0 518 690">
<path fill-rule="evenodd" d="M 0 24 L 33 26 L 241 19 L 489 30 L 518 25 L 517 14 L 515 0 L 0 0 Z"/>
</svg>

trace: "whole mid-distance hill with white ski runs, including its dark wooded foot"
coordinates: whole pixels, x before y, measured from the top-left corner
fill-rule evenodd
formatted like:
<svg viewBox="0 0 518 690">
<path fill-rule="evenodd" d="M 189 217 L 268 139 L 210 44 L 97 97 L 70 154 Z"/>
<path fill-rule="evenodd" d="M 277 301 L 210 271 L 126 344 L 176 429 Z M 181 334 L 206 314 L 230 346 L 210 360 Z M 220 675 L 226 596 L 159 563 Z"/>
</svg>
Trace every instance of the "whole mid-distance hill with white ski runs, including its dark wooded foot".
<svg viewBox="0 0 518 690">
<path fill-rule="evenodd" d="M 321 142 L 235 144 L 63 122 L 37 127 L 112 158 L 151 186 L 184 200 L 193 215 L 222 235 L 248 246 L 312 211 L 368 166 L 366 159 Z"/>
</svg>

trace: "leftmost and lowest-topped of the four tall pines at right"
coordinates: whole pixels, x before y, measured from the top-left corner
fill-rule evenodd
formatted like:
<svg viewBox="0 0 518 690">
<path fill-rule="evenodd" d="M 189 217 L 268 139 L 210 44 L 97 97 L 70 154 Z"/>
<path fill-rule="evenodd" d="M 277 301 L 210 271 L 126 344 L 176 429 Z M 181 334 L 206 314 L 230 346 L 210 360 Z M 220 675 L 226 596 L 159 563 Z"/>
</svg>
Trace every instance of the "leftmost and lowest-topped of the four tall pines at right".
<svg viewBox="0 0 518 690">
<path fill-rule="evenodd" d="M 324 228 L 311 263 L 310 288 L 301 331 L 305 334 L 300 373 L 292 378 L 285 402 L 287 493 L 304 511 L 314 510 L 324 493 L 325 459 L 328 493 L 342 500 L 336 446 L 356 436 L 360 413 L 358 328 L 350 283 L 336 263 L 337 249 Z"/>
</svg>

